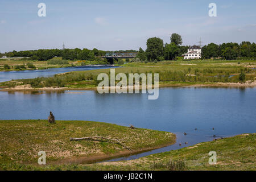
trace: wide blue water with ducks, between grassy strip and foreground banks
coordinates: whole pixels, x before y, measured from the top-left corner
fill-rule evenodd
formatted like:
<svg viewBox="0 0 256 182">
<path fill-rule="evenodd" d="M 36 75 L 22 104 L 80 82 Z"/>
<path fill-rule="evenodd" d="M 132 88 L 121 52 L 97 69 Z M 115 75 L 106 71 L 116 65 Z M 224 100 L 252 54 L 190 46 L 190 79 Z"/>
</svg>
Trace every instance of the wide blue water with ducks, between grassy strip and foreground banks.
<svg viewBox="0 0 256 182">
<path fill-rule="evenodd" d="M 131 124 L 177 135 L 177 143 L 172 146 L 122 160 L 175 150 L 180 148 L 180 142 L 185 147 L 213 140 L 213 135 L 256 132 L 256 88 L 161 88 L 158 100 L 147 100 L 147 94 L 83 90 L 0 92 L 0 98 L 0 119 L 47 119 L 52 111 L 57 120 Z"/>
</svg>

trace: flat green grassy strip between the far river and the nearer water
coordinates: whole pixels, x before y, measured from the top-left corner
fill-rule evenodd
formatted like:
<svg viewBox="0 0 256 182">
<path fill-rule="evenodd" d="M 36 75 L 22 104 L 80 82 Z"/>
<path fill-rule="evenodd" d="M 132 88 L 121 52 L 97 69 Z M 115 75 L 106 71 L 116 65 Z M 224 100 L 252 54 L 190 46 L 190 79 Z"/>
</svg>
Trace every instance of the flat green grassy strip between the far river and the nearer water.
<svg viewBox="0 0 256 182">
<path fill-rule="evenodd" d="M 256 61 L 161 61 L 158 63 L 128 63 L 122 68 L 115 68 L 115 74 L 126 73 L 159 73 L 160 86 L 191 85 L 225 85 L 226 83 L 242 83 L 244 86 L 255 85 Z M 51 78 L 34 78 L 13 80 L 0 83 L 1 88 L 67 88 L 95 89 L 100 81 L 100 73 L 110 74 L 109 69 L 76 71 L 55 75 Z M 153 79 L 154 80 L 154 79 Z M 118 81 L 117 81 L 118 82 Z M 117 83 L 116 82 L 116 83 Z M 246 83 L 246 84 L 245 84 Z M 232 84 L 226 84 L 232 86 Z M 241 85 L 241 86 L 243 86 Z M 23 87 L 22 87 L 23 86 Z M 239 85 L 238 85 L 239 86 Z"/>
</svg>

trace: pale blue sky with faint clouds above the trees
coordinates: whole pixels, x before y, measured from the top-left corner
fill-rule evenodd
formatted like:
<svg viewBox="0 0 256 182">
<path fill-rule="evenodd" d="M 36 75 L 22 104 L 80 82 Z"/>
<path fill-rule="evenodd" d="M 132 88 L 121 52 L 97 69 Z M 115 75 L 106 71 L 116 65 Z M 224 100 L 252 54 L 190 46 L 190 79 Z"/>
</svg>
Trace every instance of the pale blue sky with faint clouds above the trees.
<svg viewBox="0 0 256 182">
<path fill-rule="evenodd" d="M 38 4 L 46 4 L 46 17 Z M 217 17 L 209 17 L 209 3 Z M 183 45 L 256 42 L 255 0 L 87 0 L 0 2 L 0 52 L 30 49 L 146 48 L 146 40 L 170 42 L 180 34 Z"/>
</svg>

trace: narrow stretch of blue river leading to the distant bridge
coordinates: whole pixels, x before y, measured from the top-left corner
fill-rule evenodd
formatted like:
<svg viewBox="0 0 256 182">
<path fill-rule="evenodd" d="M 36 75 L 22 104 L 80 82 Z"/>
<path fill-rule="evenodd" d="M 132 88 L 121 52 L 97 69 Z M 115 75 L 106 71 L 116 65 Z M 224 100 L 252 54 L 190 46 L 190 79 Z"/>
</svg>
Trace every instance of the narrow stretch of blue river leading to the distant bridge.
<svg viewBox="0 0 256 182">
<path fill-rule="evenodd" d="M 36 77 L 48 77 L 58 73 L 71 72 L 71 71 L 84 71 L 91 69 L 103 69 L 103 68 L 116 68 L 108 65 L 94 65 L 84 67 L 69 67 L 69 68 L 52 68 L 52 69 L 38 69 L 38 70 L 25 70 L 25 71 L 9 71 L 0 72 L 0 82 L 9 81 L 12 79 L 23 78 L 36 78 Z"/>
</svg>

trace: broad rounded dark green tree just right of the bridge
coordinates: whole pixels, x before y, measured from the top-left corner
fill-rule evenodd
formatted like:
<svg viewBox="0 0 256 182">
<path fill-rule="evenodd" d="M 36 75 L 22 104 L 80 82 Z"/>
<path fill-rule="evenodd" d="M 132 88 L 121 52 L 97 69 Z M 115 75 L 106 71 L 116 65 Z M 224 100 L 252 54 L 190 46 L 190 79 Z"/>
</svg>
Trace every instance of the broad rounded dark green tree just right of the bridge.
<svg viewBox="0 0 256 182">
<path fill-rule="evenodd" d="M 163 56 L 163 40 L 160 38 L 149 38 L 147 39 L 146 55 L 147 59 L 154 61 L 158 57 Z"/>
</svg>

